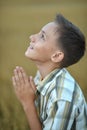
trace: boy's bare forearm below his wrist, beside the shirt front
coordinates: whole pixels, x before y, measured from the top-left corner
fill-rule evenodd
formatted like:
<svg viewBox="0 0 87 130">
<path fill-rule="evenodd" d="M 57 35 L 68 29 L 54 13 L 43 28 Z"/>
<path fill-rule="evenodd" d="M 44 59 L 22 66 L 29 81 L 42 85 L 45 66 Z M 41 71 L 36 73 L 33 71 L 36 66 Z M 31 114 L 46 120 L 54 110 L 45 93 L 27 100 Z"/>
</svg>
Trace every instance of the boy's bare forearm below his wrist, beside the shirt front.
<svg viewBox="0 0 87 130">
<path fill-rule="evenodd" d="M 28 103 L 24 107 L 24 111 L 29 122 L 30 130 L 42 130 L 42 125 L 39 120 L 34 102 Z"/>
</svg>

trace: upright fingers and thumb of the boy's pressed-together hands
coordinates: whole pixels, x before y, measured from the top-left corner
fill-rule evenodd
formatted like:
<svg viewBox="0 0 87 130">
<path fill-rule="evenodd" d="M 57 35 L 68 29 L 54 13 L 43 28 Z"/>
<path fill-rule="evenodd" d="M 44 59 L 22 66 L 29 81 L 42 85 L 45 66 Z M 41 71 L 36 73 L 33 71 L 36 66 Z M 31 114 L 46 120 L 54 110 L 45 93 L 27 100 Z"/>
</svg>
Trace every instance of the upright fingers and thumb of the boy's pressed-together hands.
<svg viewBox="0 0 87 130">
<path fill-rule="evenodd" d="M 22 67 L 17 66 L 14 70 L 14 76 L 12 77 L 13 86 L 16 90 L 32 90 L 33 93 L 36 93 L 36 86 L 33 80 L 33 77 L 26 75 L 24 69 Z"/>
</svg>

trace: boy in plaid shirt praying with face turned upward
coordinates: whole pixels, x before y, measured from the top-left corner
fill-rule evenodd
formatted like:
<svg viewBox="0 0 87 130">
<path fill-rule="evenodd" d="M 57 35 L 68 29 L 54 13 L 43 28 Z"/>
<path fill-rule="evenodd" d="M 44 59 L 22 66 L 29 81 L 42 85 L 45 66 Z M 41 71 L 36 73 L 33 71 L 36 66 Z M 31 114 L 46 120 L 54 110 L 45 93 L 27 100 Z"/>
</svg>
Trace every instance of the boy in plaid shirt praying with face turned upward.
<svg viewBox="0 0 87 130">
<path fill-rule="evenodd" d="M 84 35 L 61 14 L 30 36 L 25 55 L 39 71 L 33 80 L 17 66 L 12 81 L 31 130 L 87 130 L 86 101 L 65 69 L 84 52 Z"/>
</svg>

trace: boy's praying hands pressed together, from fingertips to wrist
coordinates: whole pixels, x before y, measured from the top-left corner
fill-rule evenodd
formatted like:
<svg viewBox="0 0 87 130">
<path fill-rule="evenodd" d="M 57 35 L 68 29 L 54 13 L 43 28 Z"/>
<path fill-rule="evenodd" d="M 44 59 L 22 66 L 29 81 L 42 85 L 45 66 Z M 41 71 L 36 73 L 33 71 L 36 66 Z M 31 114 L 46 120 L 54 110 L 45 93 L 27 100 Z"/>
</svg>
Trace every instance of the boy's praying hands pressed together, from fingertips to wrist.
<svg viewBox="0 0 87 130">
<path fill-rule="evenodd" d="M 22 67 L 16 67 L 14 70 L 14 76 L 12 77 L 15 93 L 22 104 L 26 104 L 27 101 L 34 101 L 36 98 L 36 87 L 33 78 L 26 75 Z"/>
</svg>

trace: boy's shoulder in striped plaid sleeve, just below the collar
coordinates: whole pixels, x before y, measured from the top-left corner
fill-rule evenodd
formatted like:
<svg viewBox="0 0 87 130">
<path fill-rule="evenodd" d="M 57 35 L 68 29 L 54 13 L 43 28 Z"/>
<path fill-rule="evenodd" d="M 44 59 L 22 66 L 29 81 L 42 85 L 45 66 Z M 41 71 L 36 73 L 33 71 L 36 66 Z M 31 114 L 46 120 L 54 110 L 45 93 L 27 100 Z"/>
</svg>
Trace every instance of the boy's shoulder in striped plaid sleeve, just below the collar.
<svg viewBox="0 0 87 130">
<path fill-rule="evenodd" d="M 71 102 L 75 89 L 75 80 L 66 69 L 62 69 L 56 74 L 54 86 L 53 91 L 50 93 L 51 97 L 55 95 L 56 100 Z"/>
</svg>

